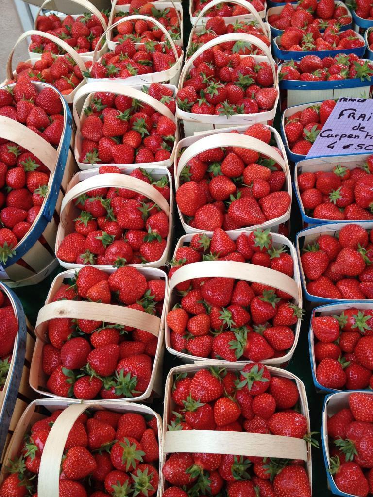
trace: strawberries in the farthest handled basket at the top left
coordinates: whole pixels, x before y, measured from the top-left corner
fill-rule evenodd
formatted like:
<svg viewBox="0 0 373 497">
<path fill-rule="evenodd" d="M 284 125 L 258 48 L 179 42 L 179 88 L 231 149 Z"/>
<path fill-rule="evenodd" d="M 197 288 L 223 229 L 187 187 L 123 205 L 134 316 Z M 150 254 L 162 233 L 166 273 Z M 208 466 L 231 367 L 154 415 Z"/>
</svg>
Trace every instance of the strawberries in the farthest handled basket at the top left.
<svg viewBox="0 0 373 497">
<path fill-rule="evenodd" d="M 102 12 L 107 25 L 107 16 Z M 95 14 L 85 12 L 76 19 L 67 15 L 61 19 L 56 14 L 39 15 L 36 19 L 36 29 L 61 38 L 65 43 L 74 48 L 79 54 L 92 52 L 103 33 L 103 26 Z M 100 47 L 99 47 L 100 48 Z M 61 48 L 56 43 L 40 35 L 31 35 L 29 52 L 37 54 L 51 53 L 58 55 Z"/>
</svg>

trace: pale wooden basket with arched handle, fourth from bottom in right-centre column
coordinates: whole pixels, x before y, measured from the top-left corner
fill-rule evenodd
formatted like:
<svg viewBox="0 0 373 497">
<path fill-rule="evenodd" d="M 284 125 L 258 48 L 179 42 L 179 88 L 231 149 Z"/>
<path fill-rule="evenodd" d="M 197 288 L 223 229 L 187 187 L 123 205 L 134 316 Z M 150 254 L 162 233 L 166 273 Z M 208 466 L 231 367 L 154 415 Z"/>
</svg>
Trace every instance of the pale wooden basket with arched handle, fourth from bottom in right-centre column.
<svg viewBox="0 0 373 497">
<path fill-rule="evenodd" d="M 194 67 L 193 62 L 199 55 L 201 55 L 208 48 L 212 48 L 215 45 L 219 45 L 220 43 L 227 41 L 246 41 L 248 43 L 251 43 L 255 47 L 260 48 L 265 55 L 254 55 L 252 57 L 254 57 L 255 61 L 257 62 L 265 61 L 270 63 L 274 75 L 275 88 L 279 89 L 277 67 L 271 55 L 270 49 L 259 38 L 244 33 L 224 34 L 202 45 L 202 47 L 200 47 L 190 57 L 190 59 L 186 61 L 180 76 L 178 89 L 183 88 L 184 81 L 189 71 Z M 182 121 L 184 126 L 184 136 L 187 137 L 192 136 L 194 132 L 208 131 L 217 128 L 227 128 L 235 125 L 247 124 L 249 126 L 250 124 L 254 123 L 269 124 L 269 121 L 272 121 L 275 118 L 278 101 L 279 91 L 274 108 L 272 110 L 266 110 L 265 112 L 256 112 L 254 114 L 235 114 L 228 117 L 210 114 L 193 114 L 192 112 L 181 110 L 178 107 L 178 104 L 176 104 L 176 115 Z"/>
</svg>

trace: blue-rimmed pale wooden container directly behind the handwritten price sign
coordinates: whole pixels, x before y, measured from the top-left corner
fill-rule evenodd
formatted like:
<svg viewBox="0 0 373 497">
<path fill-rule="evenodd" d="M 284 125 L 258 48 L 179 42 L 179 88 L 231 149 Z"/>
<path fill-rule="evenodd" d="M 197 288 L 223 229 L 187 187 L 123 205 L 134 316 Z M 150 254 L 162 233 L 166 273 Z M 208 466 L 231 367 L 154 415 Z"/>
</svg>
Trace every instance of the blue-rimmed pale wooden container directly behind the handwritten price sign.
<svg viewBox="0 0 373 497">
<path fill-rule="evenodd" d="M 306 54 L 306 52 L 298 53 Z M 313 55 L 317 55 L 322 58 L 319 53 L 320 52 L 314 52 Z M 304 55 L 300 59 L 303 57 Z M 279 73 L 281 71 L 281 67 L 282 64 L 279 66 Z M 300 81 L 282 79 L 279 82 L 280 90 L 286 90 L 286 94 L 281 94 L 281 96 L 286 99 L 287 107 L 307 103 L 309 101 L 316 102 L 321 98 L 323 100 L 334 100 L 341 96 L 361 98 L 364 95 L 368 98 L 372 86 L 373 79 L 371 77 L 368 77 L 366 80 L 352 78 L 348 80 L 334 81 Z"/>
</svg>

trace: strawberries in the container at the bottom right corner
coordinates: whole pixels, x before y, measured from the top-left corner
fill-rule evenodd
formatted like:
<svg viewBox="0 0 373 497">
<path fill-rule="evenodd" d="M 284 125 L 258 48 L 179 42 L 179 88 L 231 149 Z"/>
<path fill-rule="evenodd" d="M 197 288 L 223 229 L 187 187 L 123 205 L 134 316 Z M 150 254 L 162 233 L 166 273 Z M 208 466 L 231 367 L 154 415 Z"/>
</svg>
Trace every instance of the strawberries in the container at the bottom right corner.
<svg viewBox="0 0 373 497">
<path fill-rule="evenodd" d="M 330 473 L 338 490 L 373 494 L 373 397 L 353 392 L 348 407 L 328 418 Z"/>
</svg>

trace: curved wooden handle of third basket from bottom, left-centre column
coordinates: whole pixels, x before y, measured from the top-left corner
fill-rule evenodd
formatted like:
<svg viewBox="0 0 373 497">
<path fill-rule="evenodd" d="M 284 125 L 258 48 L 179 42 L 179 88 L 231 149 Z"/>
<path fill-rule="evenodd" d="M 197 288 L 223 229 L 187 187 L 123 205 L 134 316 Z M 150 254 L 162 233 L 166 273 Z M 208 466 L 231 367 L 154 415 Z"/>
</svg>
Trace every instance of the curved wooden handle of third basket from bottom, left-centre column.
<svg viewBox="0 0 373 497">
<path fill-rule="evenodd" d="M 129 176 L 127 174 L 116 174 L 108 172 L 104 174 L 96 174 L 87 178 L 66 192 L 61 205 L 61 214 L 66 208 L 67 204 L 79 197 L 82 193 L 87 193 L 94 188 L 128 188 L 129 190 L 145 195 L 150 200 L 155 202 L 165 212 L 167 217 L 170 213 L 170 206 L 165 197 L 154 186 L 146 183 L 142 179 Z"/>
</svg>

